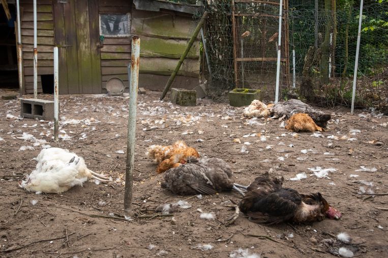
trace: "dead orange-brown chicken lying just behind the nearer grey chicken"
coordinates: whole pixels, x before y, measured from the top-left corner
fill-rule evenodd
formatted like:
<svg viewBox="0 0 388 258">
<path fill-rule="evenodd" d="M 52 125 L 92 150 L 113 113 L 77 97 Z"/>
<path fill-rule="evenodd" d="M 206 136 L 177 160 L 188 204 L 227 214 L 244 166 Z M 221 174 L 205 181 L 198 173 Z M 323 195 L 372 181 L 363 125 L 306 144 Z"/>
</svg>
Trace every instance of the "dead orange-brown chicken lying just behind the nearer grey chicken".
<svg viewBox="0 0 388 258">
<path fill-rule="evenodd" d="M 157 173 L 163 173 L 172 167 L 186 163 L 188 157 L 199 158 L 198 152 L 194 148 L 187 146 L 182 140 L 178 140 L 168 146 L 152 145 L 148 148 L 146 155 L 159 164 L 156 169 Z"/>
</svg>

